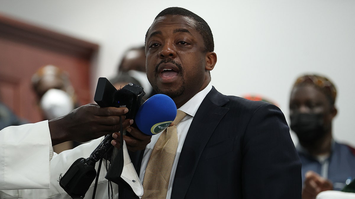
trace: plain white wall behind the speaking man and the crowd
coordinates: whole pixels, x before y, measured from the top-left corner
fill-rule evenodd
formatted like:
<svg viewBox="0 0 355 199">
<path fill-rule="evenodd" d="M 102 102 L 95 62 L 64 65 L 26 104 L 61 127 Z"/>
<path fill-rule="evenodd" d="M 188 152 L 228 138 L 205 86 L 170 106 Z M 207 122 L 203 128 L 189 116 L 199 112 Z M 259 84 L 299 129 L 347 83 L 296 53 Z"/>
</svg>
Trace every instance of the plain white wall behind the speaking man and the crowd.
<svg viewBox="0 0 355 199">
<path fill-rule="evenodd" d="M 210 25 L 218 56 L 212 84 L 224 94 L 261 94 L 278 103 L 289 121 L 296 76 L 329 76 L 338 89 L 334 137 L 355 146 L 353 0 L 0 0 L 0 13 L 99 44 L 94 90 L 98 77 L 113 76 L 124 50 L 143 44 L 154 17 L 171 6 Z"/>
</svg>

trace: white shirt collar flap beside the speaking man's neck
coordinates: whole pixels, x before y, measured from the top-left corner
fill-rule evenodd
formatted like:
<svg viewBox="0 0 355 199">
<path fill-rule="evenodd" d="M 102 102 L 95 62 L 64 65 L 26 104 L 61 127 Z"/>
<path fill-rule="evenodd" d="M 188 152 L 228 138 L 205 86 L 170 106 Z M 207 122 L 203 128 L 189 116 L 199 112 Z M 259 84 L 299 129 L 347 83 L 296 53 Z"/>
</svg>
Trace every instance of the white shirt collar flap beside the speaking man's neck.
<svg viewBox="0 0 355 199">
<path fill-rule="evenodd" d="M 195 116 L 198 107 L 200 107 L 203 99 L 212 90 L 211 82 L 204 88 L 202 91 L 196 93 L 189 101 L 187 101 L 184 105 L 182 105 L 179 110 L 191 115 L 192 117 Z"/>
</svg>

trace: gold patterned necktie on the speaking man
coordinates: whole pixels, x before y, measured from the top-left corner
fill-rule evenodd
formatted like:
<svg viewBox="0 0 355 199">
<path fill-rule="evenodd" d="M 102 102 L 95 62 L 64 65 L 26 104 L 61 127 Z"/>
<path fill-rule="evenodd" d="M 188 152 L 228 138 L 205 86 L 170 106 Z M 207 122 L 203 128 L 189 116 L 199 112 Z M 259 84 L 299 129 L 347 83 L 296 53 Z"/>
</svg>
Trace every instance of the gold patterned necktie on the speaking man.
<svg viewBox="0 0 355 199">
<path fill-rule="evenodd" d="M 178 148 L 178 131 L 176 125 L 186 116 L 178 110 L 174 126 L 166 128 L 155 143 L 149 157 L 143 178 L 142 199 L 165 199 L 168 193 L 171 167 Z"/>
</svg>

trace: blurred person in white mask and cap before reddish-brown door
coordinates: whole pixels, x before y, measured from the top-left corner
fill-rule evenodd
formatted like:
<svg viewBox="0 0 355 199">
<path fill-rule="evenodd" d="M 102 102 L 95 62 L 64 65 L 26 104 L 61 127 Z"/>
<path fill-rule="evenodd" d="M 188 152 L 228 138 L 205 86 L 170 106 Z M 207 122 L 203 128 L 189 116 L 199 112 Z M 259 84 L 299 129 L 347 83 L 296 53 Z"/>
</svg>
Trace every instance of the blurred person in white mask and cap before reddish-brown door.
<svg viewBox="0 0 355 199">
<path fill-rule="evenodd" d="M 32 88 L 43 120 L 51 120 L 64 116 L 78 107 L 77 97 L 69 80 L 69 75 L 59 67 L 47 65 L 32 75 Z M 64 142 L 54 146 L 54 152 L 77 146 L 78 142 Z"/>
</svg>

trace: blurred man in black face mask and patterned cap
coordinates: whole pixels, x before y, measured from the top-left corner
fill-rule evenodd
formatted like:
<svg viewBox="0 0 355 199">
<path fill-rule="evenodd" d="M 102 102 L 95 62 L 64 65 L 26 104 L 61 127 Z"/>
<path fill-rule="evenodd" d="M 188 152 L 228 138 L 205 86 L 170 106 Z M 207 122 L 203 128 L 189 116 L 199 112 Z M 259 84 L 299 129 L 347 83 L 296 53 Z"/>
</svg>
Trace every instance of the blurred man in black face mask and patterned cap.
<svg viewBox="0 0 355 199">
<path fill-rule="evenodd" d="M 299 144 L 302 199 L 326 190 L 341 190 L 355 178 L 355 149 L 334 141 L 332 121 L 337 115 L 334 84 L 320 75 L 302 75 L 290 95 L 290 128 Z"/>
</svg>

